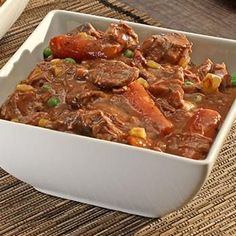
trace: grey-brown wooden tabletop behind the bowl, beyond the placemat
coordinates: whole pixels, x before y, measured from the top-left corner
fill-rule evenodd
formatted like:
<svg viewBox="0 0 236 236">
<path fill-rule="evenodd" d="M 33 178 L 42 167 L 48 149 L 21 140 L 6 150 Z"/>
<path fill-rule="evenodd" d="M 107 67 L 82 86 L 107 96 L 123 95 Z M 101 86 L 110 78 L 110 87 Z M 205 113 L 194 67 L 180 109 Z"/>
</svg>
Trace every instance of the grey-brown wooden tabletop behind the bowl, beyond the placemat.
<svg viewBox="0 0 236 236">
<path fill-rule="evenodd" d="M 236 39 L 236 0 L 121 0 L 162 27 Z"/>
</svg>

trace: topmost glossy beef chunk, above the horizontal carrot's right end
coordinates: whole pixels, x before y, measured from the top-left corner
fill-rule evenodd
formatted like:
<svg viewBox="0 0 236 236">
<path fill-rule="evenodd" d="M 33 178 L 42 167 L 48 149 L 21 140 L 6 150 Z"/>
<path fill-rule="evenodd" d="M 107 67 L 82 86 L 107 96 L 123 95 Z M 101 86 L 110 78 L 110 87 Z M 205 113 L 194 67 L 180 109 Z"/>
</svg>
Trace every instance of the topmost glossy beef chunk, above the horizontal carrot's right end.
<svg viewBox="0 0 236 236">
<path fill-rule="evenodd" d="M 125 48 L 136 46 L 139 43 L 138 35 L 125 23 L 110 24 L 105 35 L 113 38 Z"/>
</svg>

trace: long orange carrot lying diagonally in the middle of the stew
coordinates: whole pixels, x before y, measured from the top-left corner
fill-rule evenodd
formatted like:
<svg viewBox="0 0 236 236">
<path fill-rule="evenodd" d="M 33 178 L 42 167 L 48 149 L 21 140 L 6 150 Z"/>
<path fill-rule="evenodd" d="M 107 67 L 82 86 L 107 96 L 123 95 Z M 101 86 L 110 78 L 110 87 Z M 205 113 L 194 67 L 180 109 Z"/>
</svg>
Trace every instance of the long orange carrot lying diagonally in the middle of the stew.
<svg viewBox="0 0 236 236">
<path fill-rule="evenodd" d="M 160 134 L 167 135 L 173 131 L 173 124 L 166 119 L 144 87 L 137 81 L 129 84 L 123 95 L 130 105 L 141 113 L 144 119 L 149 120 Z"/>
</svg>

